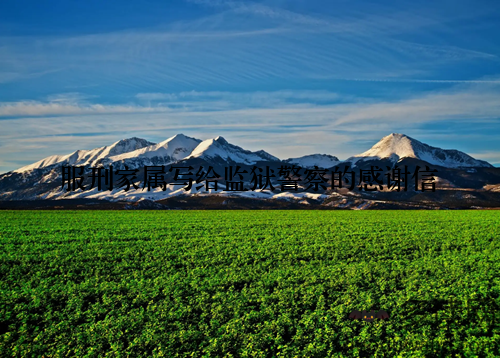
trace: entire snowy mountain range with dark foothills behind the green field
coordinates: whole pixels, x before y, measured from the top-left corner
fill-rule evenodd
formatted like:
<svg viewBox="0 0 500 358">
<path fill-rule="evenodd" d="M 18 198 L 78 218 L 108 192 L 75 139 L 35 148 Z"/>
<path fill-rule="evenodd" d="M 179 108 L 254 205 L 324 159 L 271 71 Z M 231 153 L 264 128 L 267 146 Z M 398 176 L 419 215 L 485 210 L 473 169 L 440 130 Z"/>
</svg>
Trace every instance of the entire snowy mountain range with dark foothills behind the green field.
<svg viewBox="0 0 500 358">
<path fill-rule="evenodd" d="M 282 166 L 296 165 L 305 169 L 321 168 L 329 173 L 333 168 L 370 169 L 377 166 L 387 175 L 396 166 L 406 166 L 412 170 L 417 167 L 437 170 L 435 192 L 421 192 L 410 187 L 408 191 L 394 192 L 385 188 L 382 191 L 366 192 L 344 188 L 314 190 L 305 185 L 300 190 L 281 191 L 279 175 L 271 180 L 274 191 L 233 192 L 221 181 L 218 190 L 194 186 L 186 191 L 181 186 L 167 185 L 165 190 L 158 187 L 125 191 L 115 188 L 112 191 L 68 192 L 62 189 L 62 166 L 97 167 L 113 165 L 116 169 L 137 169 L 137 178 L 143 175 L 145 166 L 175 165 L 196 170 L 202 166 L 212 167 L 219 177 L 225 167 L 240 166 L 251 172 L 252 166 L 268 166 L 274 173 Z M 173 173 L 166 175 L 173 179 Z M 358 179 L 359 180 L 359 179 Z M 137 185 L 139 185 L 137 181 Z M 167 181 L 171 183 L 171 181 Z M 248 181 L 245 184 L 250 184 Z M 418 182 L 417 182 L 418 184 Z M 32 207 L 34 202 L 56 200 L 58 204 L 78 201 L 83 207 L 90 201 L 114 203 L 127 208 L 217 208 L 228 207 L 318 207 L 318 208 L 471 208 L 500 207 L 500 168 L 475 159 L 458 150 L 440 149 L 424 144 L 404 134 L 392 133 L 383 137 L 369 150 L 340 160 L 329 154 L 310 154 L 298 158 L 280 159 L 264 150 L 249 151 L 229 143 L 223 137 L 200 140 L 177 134 L 160 143 L 152 143 L 141 138 L 128 138 L 109 146 L 92 150 L 77 150 L 67 155 L 54 155 L 36 163 L 0 175 L 1 207 L 19 205 L 19 201 Z M 361 182 L 360 182 L 361 185 Z M 317 188 L 316 188 L 317 189 Z M 65 200 L 62 200 L 65 199 Z M 17 201 L 18 204 L 12 204 Z M 248 205 L 245 204 L 247 201 Z M 6 204 L 11 202 L 11 204 Z M 180 205 L 181 203 L 193 205 Z M 31 204 L 30 204 L 31 203 Z M 225 204 L 224 204 L 225 203 Z M 147 205 L 146 205 L 147 204 Z M 112 205 L 112 206 L 113 206 Z M 61 205 L 57 205 L 61 206 Z M 64 206 L 64 205 L 62 205 Z M 98 205 L 99 206 L 99 205 Z M 95 207 L 95 203 L 93 205 Z"/>
</svg>

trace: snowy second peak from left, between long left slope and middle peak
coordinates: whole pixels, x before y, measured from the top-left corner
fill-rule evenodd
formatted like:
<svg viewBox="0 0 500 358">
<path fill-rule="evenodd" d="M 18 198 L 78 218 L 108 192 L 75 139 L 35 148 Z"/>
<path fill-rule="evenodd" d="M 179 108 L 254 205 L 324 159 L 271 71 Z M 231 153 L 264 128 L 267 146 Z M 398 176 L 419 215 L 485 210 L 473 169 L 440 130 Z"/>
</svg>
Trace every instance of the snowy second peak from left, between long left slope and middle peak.
<svg viewBox="0 0 500 358">
<path fill-rule="evenodd" d="M 132 152 L 109 157 L 110 161 L 124 161 L 131 158 L 170 158 L 172 161 L 181 160 L 189 156 L 201 143 L 200 139 L 191 138 L 184 134 L 176 134 L 163 142 L 140 148 Z"/>
</svg>

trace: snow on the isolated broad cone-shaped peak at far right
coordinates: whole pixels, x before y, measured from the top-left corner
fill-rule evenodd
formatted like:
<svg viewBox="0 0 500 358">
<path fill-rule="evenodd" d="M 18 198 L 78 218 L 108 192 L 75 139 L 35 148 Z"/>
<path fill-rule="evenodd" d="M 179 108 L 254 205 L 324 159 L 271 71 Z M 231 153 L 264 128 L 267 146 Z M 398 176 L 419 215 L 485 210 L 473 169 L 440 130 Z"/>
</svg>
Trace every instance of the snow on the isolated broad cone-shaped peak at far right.
<svg viewBox="0 0 500 358">
<path fill-rule="evenodd" d="M 348 158 L 346 162 L 355 165 L 358 161 L 390 159 L 392 162 L 397 163 L 402 158 L 416 158 L 446 168 L 493 167 L 485 161 L 474 159 L 458 150 L 431 147 L 399 133 L 385 136 L 372 148 Z"/>
</svg>

